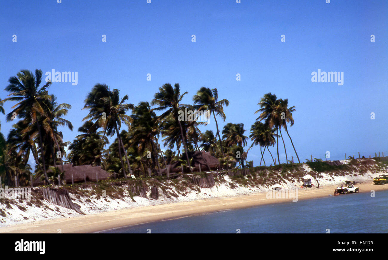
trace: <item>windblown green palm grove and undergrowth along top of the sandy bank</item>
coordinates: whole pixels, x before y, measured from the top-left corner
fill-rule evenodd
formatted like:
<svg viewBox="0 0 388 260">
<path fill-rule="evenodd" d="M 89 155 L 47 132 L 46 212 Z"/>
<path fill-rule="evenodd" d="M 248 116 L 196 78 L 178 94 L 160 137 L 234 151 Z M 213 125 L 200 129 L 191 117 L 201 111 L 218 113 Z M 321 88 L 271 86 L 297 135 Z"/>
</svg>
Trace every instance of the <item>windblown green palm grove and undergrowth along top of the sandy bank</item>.
<svg viewBox="0 0 388 260">
<path fill-rule="evenodd" d="M 6 120 L 15 123 L 6 139 L 0 135 L 0 177 L 4 185 L 14 185 L 15 180 L 19 181 L 20 186 L 29 185 L 31 174 L 42 177 L 45 184 L 56 183 L 57 175 L 63 174 L 63 163 L 101 166 L 123 181 L 134 175 L 136 180 L 128 181 L 153 181 L 158 185 L 158 182 L 165 182 L 166 177 L 170 176 L 167 165 L 173 162 L 178 161 L 193 172 L 189 154 L 201 150 L 218 158 L 223 170 L 248 169 L 249 178 L 244 177 L 247 179 L 244 183 L 270 181 L 265 178 L 275 177 L 275 172 L 279 172 L 279 178 L 284 180 L 299 178 L 303 172 L 288 133 L 288 127 L 294 124 L 295 107 L 288 105 L 288 99 L 278 99 L 270 92 L 263 95 L 258 103 L 260 109 L 255 113 L 259 113 L 259 116 L 251 125 L 249 134 L 252 144 L 246 149 L 248 136 L 242 123 L 226 123 L 222 129 L 218 127 L 219 118 L 223 122 L 226 120 L 224 107 L 229 105 L 229 101 L 219 99 L 217 88 L 201 87 L 192 96 L 192 104 L 182 104 L 187 92 L 182 91 L 178 83 L 173 86 L 166 83 L 159 87 L 151 102 L 142 101 L 134 105 L 129 102 L 130 96 L 121 94 L 119 89 L 111 90 L 105 84 L 96 84 L 84 101 L 83 109 L 88 111 L 88 115 L 78 128 L 80 134 L 70 143 L 63 141 L 60 128 L 73 129 L 72 123 L 64 118 L 71 105 L 57 102 L 57 97 L 49 93 L 51 84 L 42 82 L 42 71 L 38 69 L 35 73 L 22 70 L 9 78 L 9 85 L 5 88 L 9 96 L 0 100 L 0 112 L 5 113 L 4 102 L 12 102 L 12 110 L 7 111 Z M 183 111 L 187 120 L 180 118 Z M 202 133 L 198 127 L 207 123 L 199 120 L 201 118 L 197 114 L 190 117 L 188 111 L 208 111 L 206 119 L 214 119 L 216 132 L 207 129 Z M 298 163 L 288 160 L 289 154 L 282 135 L 284 131 L 291 141 Z M 116 138 L 109 144 L 108 137 Z M 279 137 L 286 154 L 285 164 L 279 164 Z M 167 148 L 166 151 L 162 150 L 161 143 Z M 262 156 L 259 166 L 253 167 L 253 162 L 247 161 L 248 152 L 257 145 Z M 277 158 L 271 152 L 271 147 L 275 145 Z M 271 163 L 264 159 L 266 151 L 270 153 Z M 36 163 L 34 169 L 28 164 L 30 156 Z M 338 172 L 358 165 L 354 157 L 349 158 L 348 166 L 328 165 L 317 158 L 307 163 L 317 173 Z M 381 165 L 386 163 L 382 161 Z M 272 166 L 268 167 L 268 164 Z M 360 167 L 360 171 L 367 169 L 367 166 Z M 184 176 L 187 184 L 180 185 L 190 185 L 187 180 L 190 176 Z M 238 176 L 234 177 L 238 179 Z M 120 182 L 108 180 L 97 187 Z M 171 182 L 175 183 L 176 180 Z M 163 189 L 167 190 L 165 187 Z"/>
</svg>

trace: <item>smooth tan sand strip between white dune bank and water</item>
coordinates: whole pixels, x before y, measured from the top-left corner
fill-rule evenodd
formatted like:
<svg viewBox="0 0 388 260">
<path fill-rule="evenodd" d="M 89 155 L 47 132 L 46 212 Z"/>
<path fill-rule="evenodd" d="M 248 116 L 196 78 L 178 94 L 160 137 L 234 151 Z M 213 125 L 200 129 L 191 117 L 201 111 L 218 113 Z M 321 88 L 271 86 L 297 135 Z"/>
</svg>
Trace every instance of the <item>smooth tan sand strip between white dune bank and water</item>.
<svg viewBox="0 0 388 260">
<path fill-rule="evenodd" d="M 371 190 L 388 190 L 388 185 L 374 185 L 371 181 L 356 184 L 356 186 L 360 188 L 360 193 L 370 192 Z M 298 201 L 303 199 L 325 197 L 331 197 L 334 199 L 335 197 L 333 194 L 336 187 L 337 185 L 327 185 L 320 187 L 319 189 L 316 187 L 298 188 Z M 0 233 L 93 233 L 149 222 L 190 217 L 204 213 L 236 210 L 240 208 L 249 208 L 275 203 L 287 203 L 292 201 L 292 198 L 267 199 L 266 194 L 267 192 L 258 192 L 255 194 L 244 194 L 239 196 L 217 197 L 113 210 L 77 217 L 40 220 L 1 227 Z M 340 196 L 357 195 L 355 193 L 350 193 L 341 194 Z"/>
</svg>

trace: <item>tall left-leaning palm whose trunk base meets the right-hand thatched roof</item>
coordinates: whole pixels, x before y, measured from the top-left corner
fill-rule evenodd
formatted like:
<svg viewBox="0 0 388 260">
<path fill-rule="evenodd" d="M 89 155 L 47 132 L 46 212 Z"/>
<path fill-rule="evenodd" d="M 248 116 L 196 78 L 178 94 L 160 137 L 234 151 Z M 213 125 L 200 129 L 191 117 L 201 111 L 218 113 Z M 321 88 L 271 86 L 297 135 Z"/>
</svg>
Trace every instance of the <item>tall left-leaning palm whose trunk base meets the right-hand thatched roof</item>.
<svg viewBox="0 0 388 260">
<path fill-rule="evenodd" d="M 178 120 L 178 111 L 182 109 L 180 102 L 187 92 L 180 94 L 179 83 L 174 84 L 174 88 L 170 83 L 164 84 L 162 87 L 159 87 L 159 92 L 155 93 L 154 99 L 152 99 L 152 106 L 158 106 L 154 108 L 156 111 L 163 111 L 167 109 L 163 114 L 159 116 L 159 119 L 166 118 L 169 114 L 178 122 L 180 128 L 180 136 L 182 138 L 182 143 L 185 148 L 185 154 L 187 159 L 187 164 L 190 163 L 189 154 L 187 153 L 187 146 L 185 142 L 185 136 L 183 133 L 183 128 L 180 120 Z M 191 166 L 189 166 L 190 172 L 192 172 Z"/>
</svg>

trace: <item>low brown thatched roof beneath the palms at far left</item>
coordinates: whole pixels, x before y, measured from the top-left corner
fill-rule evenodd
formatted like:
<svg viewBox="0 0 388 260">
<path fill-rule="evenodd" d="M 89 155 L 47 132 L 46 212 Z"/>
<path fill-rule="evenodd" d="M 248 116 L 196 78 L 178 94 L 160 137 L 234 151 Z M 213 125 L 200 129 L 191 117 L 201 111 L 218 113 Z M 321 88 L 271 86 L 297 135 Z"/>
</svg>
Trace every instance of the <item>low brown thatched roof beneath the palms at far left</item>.
<svg viewBox="0 0 388 260">
<path fill-rule="evenodd" d="M 48 167 L 47 172 L 51 172 L 50 167 Z M 62 166 L 56 166 L 60 171 L 62 171 Z M 96 173 L 98 173 L 99 180 L 106 180 L 109 177 L 109 173 L 101 169 L 101 166 L 92 166 L 92 165 L 79 165 L 73 166 L 72 164 L 64 164 L 63 170 L 65 174 L 66 183 L 71 183 L 71 174 L 73 174 L 74 182 L 83 182 L 86 177 L 87 181 L 96 181 Z M 36 177 L 34 180 L 34 185 L 43 184 L 43 181 L 39 177 Z"/>
</svg>

